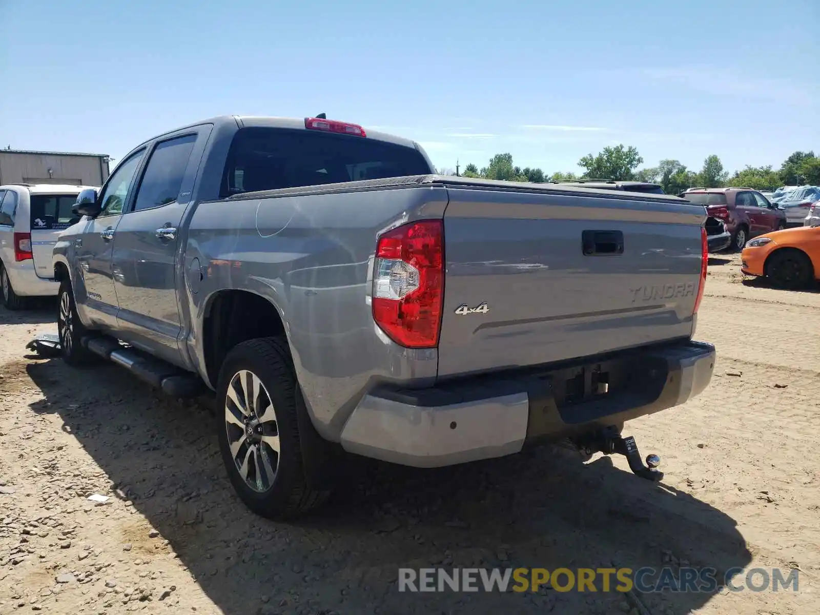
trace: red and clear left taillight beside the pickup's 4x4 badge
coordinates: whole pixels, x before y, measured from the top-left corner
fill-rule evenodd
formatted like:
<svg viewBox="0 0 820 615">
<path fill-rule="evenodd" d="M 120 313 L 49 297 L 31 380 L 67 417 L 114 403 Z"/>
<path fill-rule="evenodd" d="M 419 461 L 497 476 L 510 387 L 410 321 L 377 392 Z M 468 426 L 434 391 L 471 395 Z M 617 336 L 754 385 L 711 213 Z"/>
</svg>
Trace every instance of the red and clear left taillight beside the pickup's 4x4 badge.
<svg viewBox="0 0 820 615">
<path fill-rule="evenodd" d="M 444 222 L 410 222 L 381 235 L 373 264 L 373 319 L 406 348 L 439 344 Z"/>
</svg>

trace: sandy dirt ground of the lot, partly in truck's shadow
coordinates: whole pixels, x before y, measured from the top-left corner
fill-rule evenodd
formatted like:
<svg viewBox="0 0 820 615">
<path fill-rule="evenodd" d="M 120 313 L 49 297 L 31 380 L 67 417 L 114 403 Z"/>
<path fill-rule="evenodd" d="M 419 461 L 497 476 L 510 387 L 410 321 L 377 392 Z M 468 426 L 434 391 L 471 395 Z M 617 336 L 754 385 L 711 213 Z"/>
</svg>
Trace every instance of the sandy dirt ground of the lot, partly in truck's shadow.
<svg viewBox="0 0 820 615">
<path fill-rule="evenodd" d="M 399 567 L 613 561 L 800 571 L 796 594 L 645 594 L 652 615 L 820 613 L 820 294 L 744 281 L 737 257 L 712 259 L 700 309 L 711 385 L 626 426 L 662 484 L 560 447 L 434 471 L 362 461 L 289 524 L 236 499 L 205 403 L 26 356 L 55 312 L 0 311 L 0 613 L 639 613 L 617 593 L 396 583 Z"/>
</svg>

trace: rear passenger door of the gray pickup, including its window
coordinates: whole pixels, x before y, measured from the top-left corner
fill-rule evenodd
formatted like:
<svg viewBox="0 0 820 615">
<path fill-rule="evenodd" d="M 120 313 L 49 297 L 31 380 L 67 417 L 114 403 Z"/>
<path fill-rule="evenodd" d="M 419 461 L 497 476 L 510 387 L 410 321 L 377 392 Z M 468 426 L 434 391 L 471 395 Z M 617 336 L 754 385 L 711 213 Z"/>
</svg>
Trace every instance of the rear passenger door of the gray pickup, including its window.
<svg viewBox="0 0 820 615">
<path fill-rule="evenodd" d="M 177 273 L 182 216 L 193 191 L 206 138 L 200 132 L 157 142 L 134 203 L 116 230 L 113 270 L 122 339 L 181 364 Z"/>
</svg>

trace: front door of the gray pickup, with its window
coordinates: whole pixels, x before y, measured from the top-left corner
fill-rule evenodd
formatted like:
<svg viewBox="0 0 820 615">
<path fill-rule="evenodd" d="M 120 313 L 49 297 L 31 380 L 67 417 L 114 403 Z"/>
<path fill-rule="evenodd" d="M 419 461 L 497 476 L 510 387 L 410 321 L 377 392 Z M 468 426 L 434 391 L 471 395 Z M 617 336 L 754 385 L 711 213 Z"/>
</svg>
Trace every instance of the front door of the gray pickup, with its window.
<svg viewBox="0 0 820 615">
<path fill-rule="evenodd" d="M 77 309 L 95 325 L 116 326 L 119 307 L 112 276 L 112 251 L 116 227 L 122 211 L 133 193 L 134 176 L 145 150 L 121 162 L 100 194 L 103 211 L 95 218 L 84 218 L 82 235 L 75 239 L 77 271 L 74 272 L 74 294 Z"/>
</svg>

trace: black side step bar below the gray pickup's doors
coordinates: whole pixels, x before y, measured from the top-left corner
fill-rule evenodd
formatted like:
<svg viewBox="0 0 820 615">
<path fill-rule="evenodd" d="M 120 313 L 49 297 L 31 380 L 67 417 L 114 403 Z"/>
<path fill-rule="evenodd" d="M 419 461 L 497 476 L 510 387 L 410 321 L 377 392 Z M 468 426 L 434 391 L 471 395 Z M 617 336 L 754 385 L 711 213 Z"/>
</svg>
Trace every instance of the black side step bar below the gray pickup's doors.
<svg viewBox="0 0 820 615">
<path fill-rule="evenodd" d="M 86 335 L 80 344 L 94 354 L 125 367 L 134 376 L 161 389 L 171 397 L 189 399 L 203 394 L 205 386 L 194 374 L 160 359 L 150 357 L 135 348 L 126 348 L 116 339 L 102 335 Z"/>
</svg>

